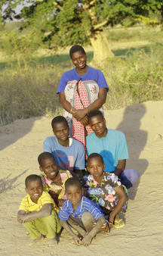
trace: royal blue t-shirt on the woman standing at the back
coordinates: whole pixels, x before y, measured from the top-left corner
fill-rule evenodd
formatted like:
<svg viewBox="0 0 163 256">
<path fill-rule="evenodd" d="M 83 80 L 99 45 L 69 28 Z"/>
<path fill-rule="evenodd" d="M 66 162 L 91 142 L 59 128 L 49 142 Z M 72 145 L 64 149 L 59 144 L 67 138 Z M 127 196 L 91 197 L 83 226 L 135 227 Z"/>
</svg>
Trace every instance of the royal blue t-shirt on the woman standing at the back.
<svg viewBox="0 0 163 256">
<path fill-rule="evenodd" d="M 82 79 L 82 81 L 90 81 L 90 80 L 96 81 L 99 88 L 106 88 L 107 90 L 109 90 L 109 87 L 106 83 L 106 79 L 105 79 L 105 76 L 103 75 L 103 73 L 94 67 L 88 66 L 88 70 L 85 73 L 85 75 L 83 75 L 83 76 L 78 75 L 75 68 L 63 73 L 63 76 L 60 79 L 57 93 L 64 92 L 64 89 L 65 89 L 67 83 L 69 83 L 70 81 L 73 81 L 73 80 L 78 81 L 80 78 Z"/>
</svg>

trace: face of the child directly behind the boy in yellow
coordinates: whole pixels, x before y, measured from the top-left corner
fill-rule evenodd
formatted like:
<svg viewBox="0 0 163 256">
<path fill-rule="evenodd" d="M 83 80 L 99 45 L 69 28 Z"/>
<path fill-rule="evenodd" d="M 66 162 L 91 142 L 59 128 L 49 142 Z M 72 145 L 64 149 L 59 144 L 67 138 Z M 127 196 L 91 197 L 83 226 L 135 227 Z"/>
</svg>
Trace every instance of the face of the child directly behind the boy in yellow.
<svg viewBox="0 0 163 256">
<path fill-rule="evenodd" d="M 58 167 L 54 158 L 47 158 L 43 160 L 42 166 L 40 166 L 40 170 L 45 172 L 45 175 L 49 180 L 54 180 L 58 174 Z"/>
</svg>

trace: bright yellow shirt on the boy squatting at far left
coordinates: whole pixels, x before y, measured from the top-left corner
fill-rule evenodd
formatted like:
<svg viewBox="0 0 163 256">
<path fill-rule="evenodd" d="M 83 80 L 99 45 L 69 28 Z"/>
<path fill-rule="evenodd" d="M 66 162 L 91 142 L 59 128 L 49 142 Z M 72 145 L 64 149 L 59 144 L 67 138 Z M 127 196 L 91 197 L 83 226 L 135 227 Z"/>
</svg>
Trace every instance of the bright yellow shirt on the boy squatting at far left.
<svg viewBox="0 0 163 256">
<path fill-rule="evenodd" d="M 31 200 L 29 194 L 26 195 L 20 204 L 20 210 L 26 211 L 26 212 L 36 212 L 40 211 L 42 209 L 42 206 L 44 204 L 52 204 L 52 209 L 55 211 L 59 211 L 57 208 L 57 205 L 55 204 L 53 198 L 51 198 L 51 195 L 49 195 L 48 192 L 43 191 L 40 198 L 38 198 L 37 204 Z"/>
</svg>

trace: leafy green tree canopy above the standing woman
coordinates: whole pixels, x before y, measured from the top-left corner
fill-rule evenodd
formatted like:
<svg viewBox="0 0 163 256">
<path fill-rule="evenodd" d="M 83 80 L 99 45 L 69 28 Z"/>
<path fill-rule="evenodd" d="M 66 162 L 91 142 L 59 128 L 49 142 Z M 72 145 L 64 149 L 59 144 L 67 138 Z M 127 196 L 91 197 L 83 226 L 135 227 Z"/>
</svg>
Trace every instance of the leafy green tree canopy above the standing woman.
<svg viewBox="0 0 163 256">
<path fill-rule="evenodd" d="M 20 14 L 15 13 L 17 5 L 23 6 Z M 157 22 L 163 17 L 161 0 L 2 0 L 0 6 L 2 23 L 23 19 L 21 29 L 30 27 L 42 42 L 62 47 L 91 42 L 94 51 L 97 45 L 104 47 L 102 41 L 108 45 L 102 34 L 108 25 L 123 23 L 126 17 L 136 21 L 155 17 Z"/>
</svg>

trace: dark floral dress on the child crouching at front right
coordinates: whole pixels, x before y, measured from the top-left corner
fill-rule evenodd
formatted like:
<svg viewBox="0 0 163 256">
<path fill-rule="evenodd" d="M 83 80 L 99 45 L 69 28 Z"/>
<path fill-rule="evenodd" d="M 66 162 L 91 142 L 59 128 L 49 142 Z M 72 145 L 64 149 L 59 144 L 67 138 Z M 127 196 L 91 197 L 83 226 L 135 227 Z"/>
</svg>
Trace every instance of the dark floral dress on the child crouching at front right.
<svg viewBox="0 0 163 256">
<path fill-rule="evenodd" d="M 121 186 L 121 182 L 118 180 L 118 176 L 115 176 L 114 173 L 107 173 L 103 172 L 103 180 L 101 184 L 97 183 L 94 180 L 94 176 L 91 174 L 88 175 L 86 180 L 86 186 L 88 187 L 87 190 L 87 197 L 94 201 L 95 203 L 99 204 L 102 208 L 103 212 L 109 214 L 116 204 L 118 203 L 118 195 L 116 194 L 114 188 Z M 125 186 L 122 186 L 125 190 L 125 193 L 128 195 L 127 189 Z M 121 211 L 125 212 L 127 210 L 128 203 L 125 202 Z"/>
</svg>

